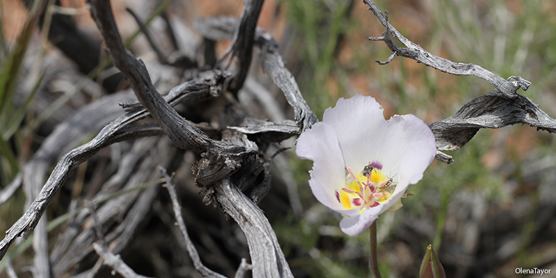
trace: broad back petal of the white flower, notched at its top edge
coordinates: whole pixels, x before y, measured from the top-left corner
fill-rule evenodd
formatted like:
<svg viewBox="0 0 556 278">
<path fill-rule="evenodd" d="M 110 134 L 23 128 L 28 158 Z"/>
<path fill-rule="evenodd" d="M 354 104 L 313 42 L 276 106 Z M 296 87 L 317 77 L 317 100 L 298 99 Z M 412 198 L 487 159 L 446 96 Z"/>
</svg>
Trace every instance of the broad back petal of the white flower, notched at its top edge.
<svg viewBox="0 0 556 278">
<path fill-rule="evenodd" d="M 345 167 L 354 172 L 369 161 L 378 161 L 384 165 L 386 175 L 398 174 L 407 146 L 413 142 L 425 141 L 426 149 L 431 151 L 426 154 L 427 159 L 432 158 L 425 168 L 436 154 L 434 135 L 425 122 L 414 115 L 395 115 L 386 121 L 373 97 L 358 94 L 339 99 L 336 107 L 325 111 L 322 121 L 336 131 Z"/>
</svg>

